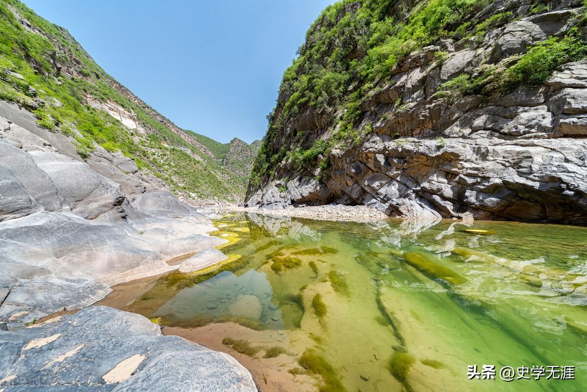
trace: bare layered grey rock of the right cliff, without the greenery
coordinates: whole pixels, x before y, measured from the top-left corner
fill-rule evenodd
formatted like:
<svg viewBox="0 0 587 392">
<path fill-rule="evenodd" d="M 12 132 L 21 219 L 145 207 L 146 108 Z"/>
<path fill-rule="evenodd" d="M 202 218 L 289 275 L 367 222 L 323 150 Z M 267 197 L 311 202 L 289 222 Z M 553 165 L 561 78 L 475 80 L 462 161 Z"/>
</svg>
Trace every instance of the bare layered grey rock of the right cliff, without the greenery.
<svg viewBox="0 0 587 392">
<path fill-rule="evenodd" d="M 360 102 L 359 143 L 327 150 L 319 157 L 329 160 L 326 170 L 292 169 L 285 158 L 249 188 L 247 205 L 335 202 L 392 216 L 587 222 L 587 60 L 508 93 L 447 89 L 507 67 L 538 42 L 563 39 L 572 26 L 582 29 L 580 2 L 531 7 L 494 2 L 473 18 L 489 26 L 484 35 L 438 40 L 400 60 Z M 272 140 L 301 145 L 291 136 L 297 127 L 311 141 L 328 141 L 337 129 L 322 124 L 339 114 L 309 107 Z"/>
</svg>

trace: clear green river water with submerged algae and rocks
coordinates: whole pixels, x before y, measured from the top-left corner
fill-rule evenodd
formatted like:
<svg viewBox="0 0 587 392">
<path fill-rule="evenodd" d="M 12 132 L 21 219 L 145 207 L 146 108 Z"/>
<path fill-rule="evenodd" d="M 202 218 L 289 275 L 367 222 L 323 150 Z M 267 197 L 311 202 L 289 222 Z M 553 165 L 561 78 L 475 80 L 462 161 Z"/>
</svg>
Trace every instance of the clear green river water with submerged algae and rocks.
<svg viewBox="0 0 587 392">
<path fill-rule="evenodd" d="M 221 250 L 241 258 L 161 278 L 127 310 L 285 330 L 323 391 L 587 390 L 587 228 L 242 214 L 217 225 L 239 239 Z M 575 380 L 467 380 L 473 364 L 575 366 Z"/>
</svg>

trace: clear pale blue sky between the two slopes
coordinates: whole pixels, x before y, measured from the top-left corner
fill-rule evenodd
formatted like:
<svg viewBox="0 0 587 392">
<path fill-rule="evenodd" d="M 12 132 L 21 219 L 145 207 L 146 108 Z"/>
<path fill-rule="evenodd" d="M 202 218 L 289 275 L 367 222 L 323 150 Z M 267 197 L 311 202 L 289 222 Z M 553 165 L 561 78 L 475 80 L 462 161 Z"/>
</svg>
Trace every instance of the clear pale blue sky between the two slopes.
<svg viewBox="0 0 587 392">
<path fill-rule="evenodd" d="M 265 134 L 286 67 L 333 0 L 23 0 L 184 129 Z"/>
</svg>

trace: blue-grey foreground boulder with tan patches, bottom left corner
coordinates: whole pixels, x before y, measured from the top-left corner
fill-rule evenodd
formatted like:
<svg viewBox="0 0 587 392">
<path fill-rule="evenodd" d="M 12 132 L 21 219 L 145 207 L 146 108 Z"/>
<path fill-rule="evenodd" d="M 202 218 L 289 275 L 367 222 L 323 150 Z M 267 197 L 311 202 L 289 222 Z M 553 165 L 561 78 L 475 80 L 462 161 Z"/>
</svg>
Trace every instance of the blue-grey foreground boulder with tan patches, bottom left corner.
<svg viewBox="0 0 587 392">
<path fill-rule="evenodd" d="M 0 391 L 254 392 L 231 356 L 106 306 L 0 331 Z"/>
</svg>

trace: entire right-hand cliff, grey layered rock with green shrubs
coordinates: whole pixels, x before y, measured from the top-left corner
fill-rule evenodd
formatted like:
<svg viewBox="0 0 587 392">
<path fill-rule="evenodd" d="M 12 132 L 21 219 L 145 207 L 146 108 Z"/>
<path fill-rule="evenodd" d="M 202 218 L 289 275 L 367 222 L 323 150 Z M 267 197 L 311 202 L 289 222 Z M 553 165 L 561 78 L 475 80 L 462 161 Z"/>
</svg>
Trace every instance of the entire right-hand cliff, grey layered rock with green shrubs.
<svg viewBox="0 0 587 392">
<path fill-rule="evenodd" d="M 248 206 L 587 222 L 581 1 L 343 1 L 286 70 Z"/>
</svg>

